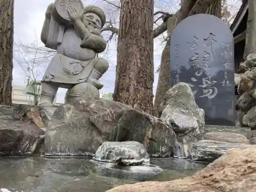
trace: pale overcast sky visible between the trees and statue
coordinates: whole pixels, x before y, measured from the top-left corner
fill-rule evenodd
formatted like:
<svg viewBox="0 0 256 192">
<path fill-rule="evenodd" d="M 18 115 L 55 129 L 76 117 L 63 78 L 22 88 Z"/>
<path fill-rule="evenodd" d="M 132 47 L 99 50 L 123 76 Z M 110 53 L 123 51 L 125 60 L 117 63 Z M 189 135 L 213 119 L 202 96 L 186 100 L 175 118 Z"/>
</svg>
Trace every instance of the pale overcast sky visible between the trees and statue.
<svg viewBox="0 0 256 192">
<path fill-rule="evenodd" d="M 229 0 L 234 1 L 234 0 Z M 45 11 L 47 6 L 50 3 L 53 3 L 54 0 L 15 0 L 14 3 L 14 41 L 19 44 L 22 42 L 23 44 L 30 45 L 33 44 L 36 39 L 39 41 L 41 46 L 44 46 L 40 42 L 40 33 L 42 24 L 45 19 Z M 115 10 L 115 7 L 104 3 L 101 0 L 98 1 L 83 1 L 84 5 L 97 5 L 101 7 L 105 13 L 107 20 L 115 20 L 117 22 L 118 27 L 118 11 Z M 111 1 L 116 3 L 115 1 Z M 168 12 L 175 12 L 178 8 L 177 5 L 178 0 L 157 0 L 155 1 L 156 10 L 163 10 Z M 86 3 L 86 4 L 85 4 Z M 104 32 L 104 37 L 107 39 L 110 36 L 110 33 Z M 37 37 L 37 38 L 36 38 Z M 155 39 L 154 41 L 154 65 L 155 71 L 160 65 L 161 52 L 165 45 L 165 42 L 162 42 L 163 37 Z M 14 50 L 17 50 L 14 45 Z M 115 65 L 116 65 L 116 41 L 115 38 L 111 41 L 108 52 L 101 54 L 102 57 L 106 57 L 110 61 L 109 70 L 101 77 L 100 81 L 104 84 L 104 87 L 100 90 L 103 93 L 109 93 L 114 91 L 115 85 Z M 13 84 L 15 85 L 24 85 L 26 81 L 26 74 L 22 70 L 22 68 L 18 65 L 17 61 L 22 58 L 18 57 L 14 51 L 14 69 L 13 69 Z M 49 62 L 44 62 L 36 69 L 36 73 L 44 71 Z M 25 66 L 23 68 L 26 68 Z M 38 79 L 41 78 L 43 74 L 39 75 Z M 155 73 L 155 81 L 154 81 L 154 94 L 157 87 L 158 74 Z M 65 96 L 66 90 L 59 89 L 57 93 L 57 101 L 62 102 Z"/>
</svg>

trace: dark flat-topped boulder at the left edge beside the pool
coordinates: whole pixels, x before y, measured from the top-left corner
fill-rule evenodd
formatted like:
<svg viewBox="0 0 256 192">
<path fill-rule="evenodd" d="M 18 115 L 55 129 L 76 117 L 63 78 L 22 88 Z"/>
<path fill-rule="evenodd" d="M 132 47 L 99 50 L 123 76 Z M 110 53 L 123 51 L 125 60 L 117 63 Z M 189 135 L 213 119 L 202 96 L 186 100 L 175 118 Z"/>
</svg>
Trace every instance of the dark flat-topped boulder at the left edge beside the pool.
<svg viewBox="0 0 256 192">
<path fill-rule="evenodd" d="M 44 131 L 35 124 L 0 119 L 0 156 L 26 156 L 37 153 Z"/>
</svg>

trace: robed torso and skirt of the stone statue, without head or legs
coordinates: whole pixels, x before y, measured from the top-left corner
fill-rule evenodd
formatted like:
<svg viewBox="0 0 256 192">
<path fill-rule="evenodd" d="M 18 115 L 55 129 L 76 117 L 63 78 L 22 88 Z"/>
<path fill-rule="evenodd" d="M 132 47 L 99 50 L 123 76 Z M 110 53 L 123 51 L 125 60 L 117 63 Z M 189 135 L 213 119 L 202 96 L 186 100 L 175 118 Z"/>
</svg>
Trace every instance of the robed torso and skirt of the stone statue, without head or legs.
<svg viewBox="0 0 256 192">
<path fill-rule="evenodd" d="M 105 46 L 101 36 L 90 34 L 82 40 L 74 28 L 66 29 L 42 81 L 55 82 L 67 89 L 86 82 L 98 61 L 96 53 L 103 52 Z"/>
</svg>

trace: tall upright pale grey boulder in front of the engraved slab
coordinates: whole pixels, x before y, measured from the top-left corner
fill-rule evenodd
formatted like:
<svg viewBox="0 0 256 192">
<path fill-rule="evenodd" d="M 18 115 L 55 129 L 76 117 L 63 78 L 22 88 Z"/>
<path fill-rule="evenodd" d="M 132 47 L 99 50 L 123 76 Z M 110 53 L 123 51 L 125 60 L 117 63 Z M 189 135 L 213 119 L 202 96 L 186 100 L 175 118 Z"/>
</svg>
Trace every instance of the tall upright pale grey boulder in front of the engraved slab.
<svg viewBox="0 0 256 192">
<path fill-rule="evenodd" d="M 160 119 L 172 126 L 177 135 L 176 151 L 184 151 L 180 154 L 188 156 L 188 145 L 202 139 L 205 132 L 204 110 L 198 107 L 189 85 L 180 82 L 170 88 L 160 105 L 160 111 Z"/>
</svg>

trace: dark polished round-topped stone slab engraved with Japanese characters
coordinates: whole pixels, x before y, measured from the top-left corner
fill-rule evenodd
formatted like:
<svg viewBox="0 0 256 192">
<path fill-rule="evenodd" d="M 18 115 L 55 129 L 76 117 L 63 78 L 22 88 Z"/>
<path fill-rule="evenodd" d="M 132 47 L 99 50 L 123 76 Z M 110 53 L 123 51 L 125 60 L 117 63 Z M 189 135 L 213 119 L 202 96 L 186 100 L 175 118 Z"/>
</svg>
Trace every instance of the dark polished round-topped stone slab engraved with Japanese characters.
<svg viewBox="0 0 256 192">
<path fill-rule="evenodd" d="M 170 83 L 186 82 L 205 124 L 235 125 L 233 35 L 218 17 L 189 16 L 170 39 Z"/>
</svg>

